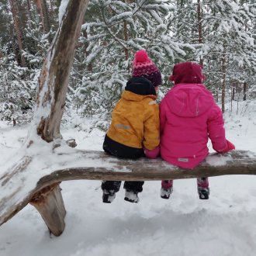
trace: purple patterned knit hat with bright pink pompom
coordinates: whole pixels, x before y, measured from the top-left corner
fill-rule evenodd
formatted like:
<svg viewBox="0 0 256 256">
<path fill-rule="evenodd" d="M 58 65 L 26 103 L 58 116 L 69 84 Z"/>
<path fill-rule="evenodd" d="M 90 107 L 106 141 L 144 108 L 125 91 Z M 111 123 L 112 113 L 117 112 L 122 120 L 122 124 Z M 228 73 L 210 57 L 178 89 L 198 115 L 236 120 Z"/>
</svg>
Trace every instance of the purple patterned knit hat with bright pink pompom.
<svg viewBox="0 0 256 256">
<path fill-rule="evenodd" d="M 147 56 L 146 50 L 138 50 L 133 60 L 133 77 L 144 77 L 152 85 L 161 85 L 161 72 L 153 61 Z"/>
</svg>

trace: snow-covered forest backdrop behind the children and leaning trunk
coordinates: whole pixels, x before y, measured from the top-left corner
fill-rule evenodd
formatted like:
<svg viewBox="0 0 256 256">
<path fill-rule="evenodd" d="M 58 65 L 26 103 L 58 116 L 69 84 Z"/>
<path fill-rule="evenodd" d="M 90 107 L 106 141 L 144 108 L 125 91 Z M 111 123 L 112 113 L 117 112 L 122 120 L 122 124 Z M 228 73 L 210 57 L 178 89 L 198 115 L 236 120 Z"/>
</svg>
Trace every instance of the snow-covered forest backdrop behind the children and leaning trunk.
<svg viewBox="0 0 256 256">
<path fill-rule="evenodd" d="M 0 119 L 13 125 L 32 118 L 40 68 L 59 25 L 60 5 L 54 0 L 1 1 Z M 163 93 L 171 87 L 168 76 L 174 64 L 197 61 L 223 112 L 234 101 L 253 100 L 255 13 L 254 0 L 90 1 L 69 80 L 66 119 L 73 109 L 80 116 L 97 116 L 94 126 L 106 130 L 140 49 L 160 68 Z"/>
</svg>

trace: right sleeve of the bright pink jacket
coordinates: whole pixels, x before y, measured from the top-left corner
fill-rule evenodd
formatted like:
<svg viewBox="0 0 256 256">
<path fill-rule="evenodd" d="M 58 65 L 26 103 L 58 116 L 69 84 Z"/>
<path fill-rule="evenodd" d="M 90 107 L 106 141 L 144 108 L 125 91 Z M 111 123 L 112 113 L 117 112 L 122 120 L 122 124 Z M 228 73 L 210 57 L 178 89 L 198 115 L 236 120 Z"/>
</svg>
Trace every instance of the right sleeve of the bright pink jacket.
<svg viewBox="0 0 256 256">
<path fill-rule="evenodd" d="M 215 103 L 207 121 L 207 128 L 213 149 L 216 151 L 224 150 L 227 147 L 227 140 L 225 137 L 223 113 Z"/>
</svg>

